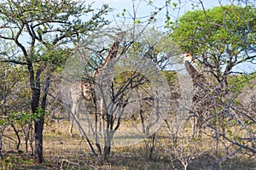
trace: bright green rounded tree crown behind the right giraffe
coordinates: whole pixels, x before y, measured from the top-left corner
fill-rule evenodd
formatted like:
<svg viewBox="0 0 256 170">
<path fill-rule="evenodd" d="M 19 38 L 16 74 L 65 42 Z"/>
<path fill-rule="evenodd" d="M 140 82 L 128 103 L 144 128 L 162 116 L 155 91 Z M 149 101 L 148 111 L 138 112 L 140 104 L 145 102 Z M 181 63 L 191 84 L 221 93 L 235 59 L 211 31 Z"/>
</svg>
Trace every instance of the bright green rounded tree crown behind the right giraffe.
<svg viewBox="0 0 256 170">
<path fill-rule="evenodd" d="M 178 19 L 172 38 L 210 72 L 228 85 L 234 67 L 255 59 L 256 15 L 253 6 L 223 6 L 195 10 Z"/>
</svg>

